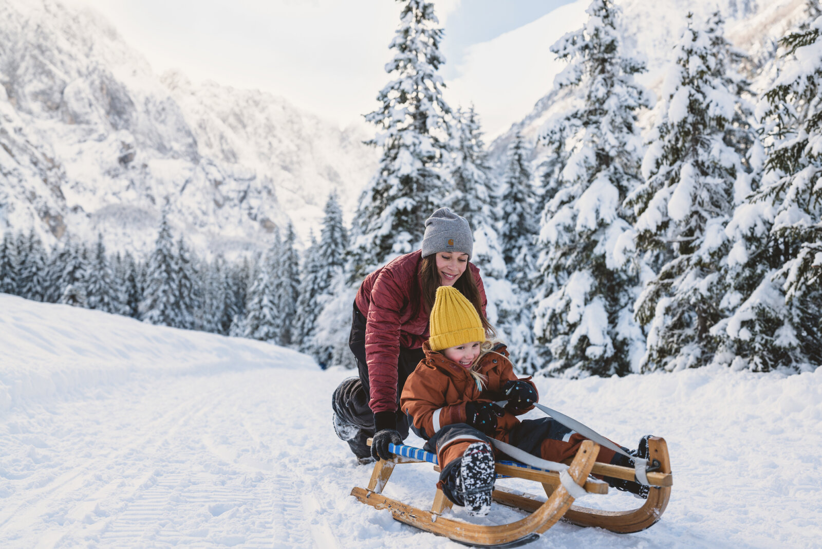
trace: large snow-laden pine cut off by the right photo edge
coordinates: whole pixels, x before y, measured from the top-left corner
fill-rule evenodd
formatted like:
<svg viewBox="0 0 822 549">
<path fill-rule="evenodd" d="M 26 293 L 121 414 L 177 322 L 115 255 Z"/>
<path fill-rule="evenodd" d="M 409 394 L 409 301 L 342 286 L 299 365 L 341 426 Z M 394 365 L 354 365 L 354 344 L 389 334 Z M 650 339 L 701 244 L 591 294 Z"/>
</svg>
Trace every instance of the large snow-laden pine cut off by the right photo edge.
<svg viewBox="0 0 822 549">
<path fill-rule="evenodd" d="M 808 14 L 781 41 L 784 65 L 757 108 L 768 145 L 762 182 L 727 228 L 737 306 L 715 332 L 736 355 L 732 366 L 753 371 L 822 362 L 822 12 L 809 4 Z"/>
</svg>

